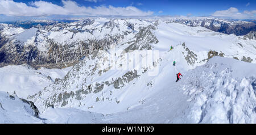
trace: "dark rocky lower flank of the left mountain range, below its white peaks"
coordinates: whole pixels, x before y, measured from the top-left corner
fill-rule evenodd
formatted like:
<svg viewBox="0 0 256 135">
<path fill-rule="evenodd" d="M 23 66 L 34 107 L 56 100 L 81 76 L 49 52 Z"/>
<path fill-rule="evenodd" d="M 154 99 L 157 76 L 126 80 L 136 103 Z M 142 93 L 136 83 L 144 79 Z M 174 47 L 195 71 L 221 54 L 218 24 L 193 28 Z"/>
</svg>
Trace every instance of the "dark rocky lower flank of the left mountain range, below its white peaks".
<svg viewBox="0 0 256 135">
<path fill-rule="evenodd" d="M 109 48 L 118 44 L 121 36 L 106 36 L 102 40 L 79 41 L 74 44 L 58 44 L 47 40 L 49 49 L 40 51 L 35 45 L 20 45 L 19 42 L 10 42 L 0 49 L 0 67 L 6 65 L 28 64 L 34 68 L 65 68 L 76 64 L 81 57 L 88 56 L 101 48 Z"/>
</svg>

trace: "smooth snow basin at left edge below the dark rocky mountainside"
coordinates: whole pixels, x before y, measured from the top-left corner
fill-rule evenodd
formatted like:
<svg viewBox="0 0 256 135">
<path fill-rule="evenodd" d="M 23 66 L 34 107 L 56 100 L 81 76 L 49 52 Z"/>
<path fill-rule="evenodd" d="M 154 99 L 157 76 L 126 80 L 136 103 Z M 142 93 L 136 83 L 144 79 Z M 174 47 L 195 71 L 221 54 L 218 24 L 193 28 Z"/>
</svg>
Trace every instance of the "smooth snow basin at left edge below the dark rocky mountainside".
<svg viewBox="0 0 256 135">
<path fill-rule="evenodd" d="M 15 91 L 20 98 L 27 99 L 50 85 L 56 78 L 63 78 L 71 68 L 66 69 L 38 69 L 27 65 L 5 66 L 0 68 L 1 90 L 13 94 Z"/>
</svg>

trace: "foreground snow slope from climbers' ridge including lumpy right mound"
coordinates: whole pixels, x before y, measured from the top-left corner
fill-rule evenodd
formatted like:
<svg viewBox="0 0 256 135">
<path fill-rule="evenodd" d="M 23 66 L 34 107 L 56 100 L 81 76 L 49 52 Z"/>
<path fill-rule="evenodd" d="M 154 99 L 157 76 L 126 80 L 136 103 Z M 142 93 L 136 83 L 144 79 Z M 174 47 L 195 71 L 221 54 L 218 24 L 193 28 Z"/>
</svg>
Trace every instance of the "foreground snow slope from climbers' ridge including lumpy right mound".
<svg viewBox="0 0 256 135">
<path fill-rule="evenodd" d="M 150 86 L 152 90 L 148 90 L 152 95 L 121 112 L 109 115 L 96 113 L 92 121 L 87 118 L 92 112 L 49 108 L 40 117 L 47 119 L 48 123 L 256 123 L 255 64 L 213 57 L 207 64 L 183 72 L 177 83 L 174 74 L 180 69 L 170 64 L 163 67 L 162 74 L 159 74 L 161 77 L 154 79 Z M 138 80 L 138 83 L 143 84 L 144 80 Z M 141 87 L 134 88 L 141 94 L 130 89 L 126 90 L 130 92 L 126 96 L 144 95 Z M 122 102 L 128 101 L 123 100 L 120 104 Z M 111 109 L 114 108 L 118 106 L 112 105 Z"/>
</svg>

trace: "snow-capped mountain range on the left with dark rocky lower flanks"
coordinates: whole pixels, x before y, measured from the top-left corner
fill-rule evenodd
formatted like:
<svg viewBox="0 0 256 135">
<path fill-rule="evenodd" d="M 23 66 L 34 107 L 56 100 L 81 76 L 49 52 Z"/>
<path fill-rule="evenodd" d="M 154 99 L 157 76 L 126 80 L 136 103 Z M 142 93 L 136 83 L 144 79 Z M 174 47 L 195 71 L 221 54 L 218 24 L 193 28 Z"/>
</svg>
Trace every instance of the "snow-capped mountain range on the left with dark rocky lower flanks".
<svg viewBox="0 0 256 135">
<path fill-rule="evenodd" d="M 134 38 L 144 38 L 144 35 L 137 33 L 154 28 L 147 27 L 150 25 L 154 26 L 154 23 L 100 18 L 30 29 L 4 27 L 0 31 L 0 65 L 65 68 L 99 49 L 109 49 L 110 45 L 122 44 Z"/>
</svg>

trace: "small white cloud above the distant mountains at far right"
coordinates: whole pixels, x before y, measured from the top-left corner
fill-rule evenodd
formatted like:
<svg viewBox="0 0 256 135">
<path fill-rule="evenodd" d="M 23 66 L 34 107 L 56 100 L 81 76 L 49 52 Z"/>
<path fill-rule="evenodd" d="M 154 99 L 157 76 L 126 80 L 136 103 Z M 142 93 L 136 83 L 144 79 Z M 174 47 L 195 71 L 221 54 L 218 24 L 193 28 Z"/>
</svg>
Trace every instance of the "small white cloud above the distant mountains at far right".
<svg viewBox="0 0 256 135">
<path fill-rule="evenodd" d="M 235 7 L 230 7 L 228 10 L 216 11 L 212 14 L 214 17 L 230 18 L 230 19 L 251 19 L 255 18 L 255 10 L 239 12 Z"/>
</svg>

